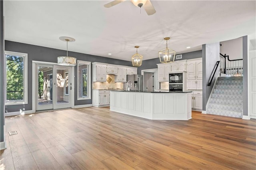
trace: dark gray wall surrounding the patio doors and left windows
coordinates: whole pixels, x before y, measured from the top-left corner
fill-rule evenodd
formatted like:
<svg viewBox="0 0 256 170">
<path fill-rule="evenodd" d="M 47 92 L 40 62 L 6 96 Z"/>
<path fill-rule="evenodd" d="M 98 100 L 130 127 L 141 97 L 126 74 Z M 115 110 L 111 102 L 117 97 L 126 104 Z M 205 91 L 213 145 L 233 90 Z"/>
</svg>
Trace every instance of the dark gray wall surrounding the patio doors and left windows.
<svg viewBox="0 0 256 170">
<path fill-rule="evenodd" d="M 30 44 L 25 44 L 25 43 L 11 42 L 11 41 L 5 41 L 5 50 L 21 52 L 21 53 L 28 53 L 28 104 L 27 105 L 6 106 L 5 107 L 6 112 L 20 111 L 20 109 L 23 110 L 23 108 L 25 108 L 25 111 L 32 110 L 32 60 L 56 63 L 57 57 L 65 56 L 66 51 L 60 50 L 60 49 L 48 48 L 48 47 L 41 47 L 41 46 L 37 46 L 37 45 L 30 45 Z M 99 56 L 95 56 L 95 55 L 76 53 L 76 52 L 72 52 L 72 51 L 68 51 L 68 55 L 72 56 L 72 57 L 76 57 L 78 60 L 83 60 L 83 61 L 132 66 L 132 62 L 119 60 L 119 59 L 99 57 Z M 75 89 L 74 89 L 74 91 L 77 91 L 77 89 L 76 89 L 76 83 L 77 83 L 76 74 L 77 74 L 77 66 L 75 66 L 75 80 L 74 80 L 75 81 L 75 86 L 74 86 Z M 78 101 L 77 93 L 75 93 L 75 105 L 86 105 L 86 104 L 92 104 L 92 100 L 79 100 Z"/>
</svg>

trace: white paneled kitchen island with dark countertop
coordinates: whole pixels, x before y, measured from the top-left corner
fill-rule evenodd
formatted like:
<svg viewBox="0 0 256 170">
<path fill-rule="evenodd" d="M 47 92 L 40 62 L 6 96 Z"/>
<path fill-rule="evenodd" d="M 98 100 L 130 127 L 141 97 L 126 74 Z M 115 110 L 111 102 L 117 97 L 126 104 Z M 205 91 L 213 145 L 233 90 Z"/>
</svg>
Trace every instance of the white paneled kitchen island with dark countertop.
<svg viewBox="0 0 256 170">
<path fill-rule="evenodd" d="M 188 120 L 191 93 L 110 91 L 110 110 L 152 120 Z"/>
</svg>

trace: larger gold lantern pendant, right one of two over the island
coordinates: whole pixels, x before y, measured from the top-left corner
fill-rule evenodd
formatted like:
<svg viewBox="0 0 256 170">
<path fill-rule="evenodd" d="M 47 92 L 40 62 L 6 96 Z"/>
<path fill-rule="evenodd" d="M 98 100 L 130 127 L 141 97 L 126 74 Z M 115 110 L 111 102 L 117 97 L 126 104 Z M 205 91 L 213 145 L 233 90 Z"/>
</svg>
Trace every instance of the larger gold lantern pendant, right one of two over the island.
<svg viewBox="0 0 256 170">
<path fill-rule="evenodd" d="M 166 48 L 162 49 L 161 51 L 158 52 L 160 62 L 161 63 L 171 63 L 174 61 L 176 51 L 168 48 L 168 46 L 167 46 L 167 41 L 170 40 L 170 37 L 166 37 L 166 38 L 164 38 L 164 40 L 166 40 Z"/>
</svg>

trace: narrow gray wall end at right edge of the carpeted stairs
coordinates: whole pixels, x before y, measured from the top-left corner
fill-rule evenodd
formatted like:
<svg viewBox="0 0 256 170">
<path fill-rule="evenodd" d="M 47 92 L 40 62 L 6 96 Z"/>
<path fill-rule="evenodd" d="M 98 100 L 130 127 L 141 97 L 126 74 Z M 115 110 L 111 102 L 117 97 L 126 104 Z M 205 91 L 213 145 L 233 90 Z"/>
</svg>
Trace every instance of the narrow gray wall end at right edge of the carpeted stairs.
<svg viewBox="0 0 256 170">
<path fill-rule="evenodd" d="M 248 116 L 248 41 L 243 36 L 243 115 Z M 255 104 L 255 103 L 254 103 Z"/>
</svg>

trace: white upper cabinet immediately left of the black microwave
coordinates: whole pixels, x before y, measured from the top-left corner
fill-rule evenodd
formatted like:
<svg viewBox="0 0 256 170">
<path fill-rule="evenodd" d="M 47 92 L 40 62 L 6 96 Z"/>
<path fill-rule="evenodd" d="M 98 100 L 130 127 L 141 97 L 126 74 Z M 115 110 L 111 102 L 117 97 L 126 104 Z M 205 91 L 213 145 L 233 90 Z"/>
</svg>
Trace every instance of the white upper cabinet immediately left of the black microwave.
<svg viewBox="0 0 256 170">
<path fill-rule="evenodd" d="M 158 81 L 165 82 L 169 81 L 169 73 L 171 71 L 170 63 L 157 64 L 158 68 Z"/>
</svg>

